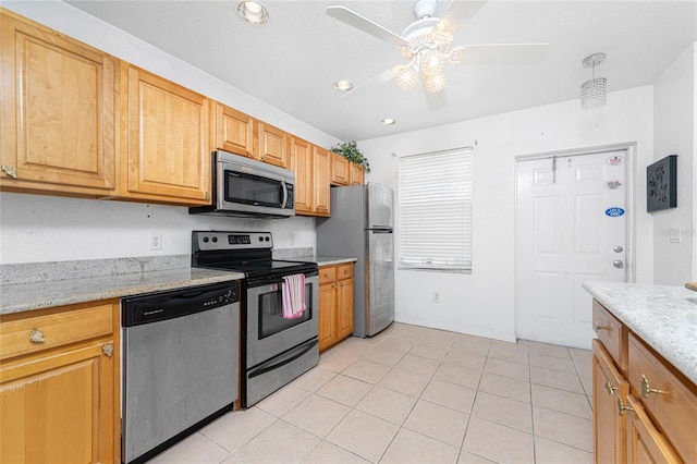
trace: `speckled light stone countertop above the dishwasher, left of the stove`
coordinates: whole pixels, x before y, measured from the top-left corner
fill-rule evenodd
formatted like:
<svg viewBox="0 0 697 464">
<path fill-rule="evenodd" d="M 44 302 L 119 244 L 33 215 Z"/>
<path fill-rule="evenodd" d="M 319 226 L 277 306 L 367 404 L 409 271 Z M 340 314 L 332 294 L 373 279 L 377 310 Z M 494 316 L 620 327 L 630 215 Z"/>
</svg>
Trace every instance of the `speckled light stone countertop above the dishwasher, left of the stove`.
<svg viewBox="0 0 697 464">
<path fill-rule="evenodd" d="M 244 279 L 244 273 L 241 272 L 192 268 L 184 265 L 181 259 L 169 260 L 170 266 L 175 264 L 182 265 L 181 267 L 150 269 L 145 266 L 144 270 L 138 271 L 137 266 L 149 261 L 143 258 L 127 259 L 135 261 L 136 268 L 123 269 L 124 259 L 119 259 L 119 262 L 115 262 L 117 260 L 70 261 L 70 268 L 75 271 L 62 276 L 57 276 L 54 270 L 41 272 L 40 269 L 49 267 L 54 269 L 58 265 L 62 271 L 65 271 L 69 268 L 68 264 L 29 265 L 38 276 L 48 279 L 42 281 L 23 281 L 22 274 L 25 272 L 22 269 L 26 268 L 25 266 L 14 265 L 19 270 L 3 269 L 3 273 L 13 273 L 12 277 L 15 280 L 5 278 L 0 285 L 0 315 Z M 95 261 L 102 265 L 100 269 L 107 269 L 105 272 L 113 272 L 113 268 L 118 266 L 121 266 L 122 272 L 84 276 L 84 270 L 95 267 L 97 264 Z M 53 279 L 51 280 L 50 277 Z"/>
</svg>

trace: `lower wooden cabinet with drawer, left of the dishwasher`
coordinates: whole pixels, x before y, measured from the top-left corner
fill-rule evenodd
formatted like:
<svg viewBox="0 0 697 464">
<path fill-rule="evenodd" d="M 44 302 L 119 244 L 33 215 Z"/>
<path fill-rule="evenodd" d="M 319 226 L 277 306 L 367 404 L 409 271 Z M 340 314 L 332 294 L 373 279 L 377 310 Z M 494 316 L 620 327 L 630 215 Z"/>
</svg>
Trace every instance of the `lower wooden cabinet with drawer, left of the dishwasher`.
<svg viewBox="0 0 697 464">
<path fill-rule="evenodd" d="M 0 322 L 0 462 L 120 462 L 119 302 Z"/>
</svg>

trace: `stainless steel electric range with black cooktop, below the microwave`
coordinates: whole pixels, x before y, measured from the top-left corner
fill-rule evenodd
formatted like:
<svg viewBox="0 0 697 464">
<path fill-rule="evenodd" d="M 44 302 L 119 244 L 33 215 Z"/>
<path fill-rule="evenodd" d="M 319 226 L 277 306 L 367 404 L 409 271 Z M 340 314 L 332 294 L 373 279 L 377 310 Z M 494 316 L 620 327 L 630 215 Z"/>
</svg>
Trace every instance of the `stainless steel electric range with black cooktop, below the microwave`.
<svg viewBox="0 0 697 464">
<path fill-rule="evenodd" d="M 249 407 L 319 362 L 317 264 L 274 260 L 270 232 L 192 232 L 192 266 L 243 272 L 241 402 Z M 286 319 L 283 277 L 305 276 L 305 312 Z"/>
</svg>

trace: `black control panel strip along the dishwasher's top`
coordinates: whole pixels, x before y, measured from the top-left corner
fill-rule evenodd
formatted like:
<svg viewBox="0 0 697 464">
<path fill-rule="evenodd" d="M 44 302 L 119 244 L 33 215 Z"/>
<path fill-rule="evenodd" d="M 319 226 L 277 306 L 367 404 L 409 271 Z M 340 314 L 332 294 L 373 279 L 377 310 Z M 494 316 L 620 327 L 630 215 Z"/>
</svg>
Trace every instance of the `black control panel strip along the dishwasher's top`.
<svg viewBox="0 0 697 464">
<path fill-rule="evenodd" d="M 121 300 L 122 326 L 132 327 L 239 304 L 240 282 L 191 286 Z"/>
</svg>

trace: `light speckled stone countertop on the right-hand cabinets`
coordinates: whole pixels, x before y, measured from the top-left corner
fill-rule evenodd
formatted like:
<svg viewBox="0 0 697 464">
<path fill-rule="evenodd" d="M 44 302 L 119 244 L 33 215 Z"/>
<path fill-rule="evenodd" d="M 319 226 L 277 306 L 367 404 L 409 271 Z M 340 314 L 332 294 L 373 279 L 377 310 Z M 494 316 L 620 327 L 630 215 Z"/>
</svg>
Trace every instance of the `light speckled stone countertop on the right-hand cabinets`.
<svg viewBox="0 0 697 464">
<path fill-rule="evenodd" d="M 697 292 L 680 285 L 601 281 L 583 286 L 697 384 Z"/>
</svg>

